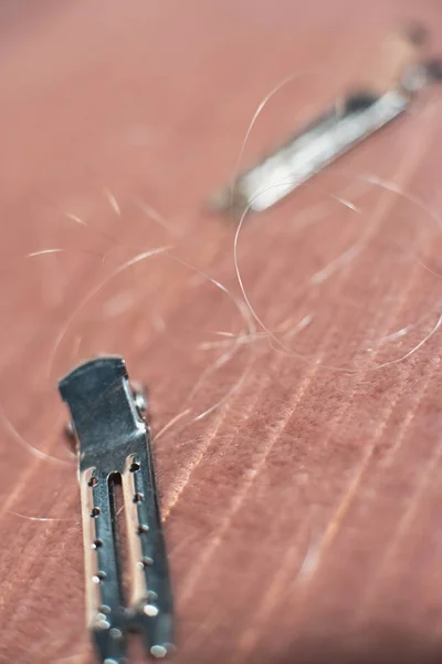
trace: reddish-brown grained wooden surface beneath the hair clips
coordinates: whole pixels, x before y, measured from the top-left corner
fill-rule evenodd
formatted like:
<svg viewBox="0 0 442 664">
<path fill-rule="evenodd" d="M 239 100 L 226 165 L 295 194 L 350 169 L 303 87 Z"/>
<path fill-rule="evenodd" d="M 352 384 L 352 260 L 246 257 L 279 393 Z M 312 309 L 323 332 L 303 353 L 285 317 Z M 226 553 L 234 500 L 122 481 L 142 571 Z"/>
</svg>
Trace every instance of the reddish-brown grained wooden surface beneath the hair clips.
<svg viewBox="0 0 442 664">
<path fill-rule="evenodd" d="M 0 23 L 0 662 L 94 661 L 56 381 L 104 352 L 149 387 L 177 664 L 440 662 L 442 89 L 238 234 L 206 205 L 386 34 L 442 53 L 440 0 L 55 4 Z"/>
</svg>

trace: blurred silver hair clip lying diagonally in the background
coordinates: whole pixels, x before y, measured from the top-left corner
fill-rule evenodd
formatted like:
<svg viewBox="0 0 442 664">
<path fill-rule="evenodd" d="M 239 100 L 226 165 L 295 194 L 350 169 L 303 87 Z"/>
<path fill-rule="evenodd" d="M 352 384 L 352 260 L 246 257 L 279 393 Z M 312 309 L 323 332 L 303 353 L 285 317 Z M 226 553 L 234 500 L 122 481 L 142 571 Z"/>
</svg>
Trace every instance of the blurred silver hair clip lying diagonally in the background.
<svg viewBox="0 0 442 664">
<path fill-rule="evenodd" d="M 366 86 L 339 97 L 270 156 L 240 174 L 211 197 L 210 207 L 234 218 L 249 210 L 266 210 L 401 115 L 419 90 L 442 80 L 442 60 L 419 62 L 417 51 L 424 41 L 420 28 L 390 39 L 382 69 Z"/>
</svg>

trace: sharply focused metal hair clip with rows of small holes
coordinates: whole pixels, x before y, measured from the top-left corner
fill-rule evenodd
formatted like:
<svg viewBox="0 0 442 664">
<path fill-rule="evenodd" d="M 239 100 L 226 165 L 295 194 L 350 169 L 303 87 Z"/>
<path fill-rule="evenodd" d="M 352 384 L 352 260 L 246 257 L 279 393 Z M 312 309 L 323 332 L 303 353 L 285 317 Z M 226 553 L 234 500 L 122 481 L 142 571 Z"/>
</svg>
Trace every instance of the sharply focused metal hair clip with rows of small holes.
<svg viewBox="0 0 442 664">
<path fill-rule="evenodd" d="M 78 439 L 87 624 L 103 664 L 126 662 L 128 630 L 151 655 L 172 650 L 172 601 L 143 394 L 123 357 L 80 365 L 59 384 Z M 122 484 L 130 596 L 124 601 L 115 487 Z"/>
</svg>

